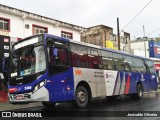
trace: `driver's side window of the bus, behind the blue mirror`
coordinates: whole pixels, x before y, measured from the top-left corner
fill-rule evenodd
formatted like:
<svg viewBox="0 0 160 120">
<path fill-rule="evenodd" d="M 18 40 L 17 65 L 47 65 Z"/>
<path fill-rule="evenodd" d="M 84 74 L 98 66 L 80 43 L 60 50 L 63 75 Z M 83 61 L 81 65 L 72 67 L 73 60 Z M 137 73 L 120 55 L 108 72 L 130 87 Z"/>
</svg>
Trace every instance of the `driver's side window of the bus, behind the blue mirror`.
<svg viewBox="0 0 160 120">
<path fill-rule="evenodd" d="M 69 62 L 69 44 L 63 41 L 53 39 L 48 41 L 48 62 L 49 74 L 56 74 L 68 70 Z"/>
</svg>

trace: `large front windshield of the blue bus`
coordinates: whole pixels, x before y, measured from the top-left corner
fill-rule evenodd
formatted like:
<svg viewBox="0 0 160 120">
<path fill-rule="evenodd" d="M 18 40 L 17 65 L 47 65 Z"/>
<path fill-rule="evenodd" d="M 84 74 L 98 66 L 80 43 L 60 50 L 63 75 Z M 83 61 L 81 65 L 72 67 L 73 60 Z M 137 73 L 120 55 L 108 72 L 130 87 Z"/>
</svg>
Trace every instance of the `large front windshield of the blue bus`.
<svg viewBox="0 0 160 120">
<path fill-rule="evenodd" d="M 44 46 L 16 50 L 11 56 L 11 77 L 26 76 L 46 69 Z"/>
</svg>

